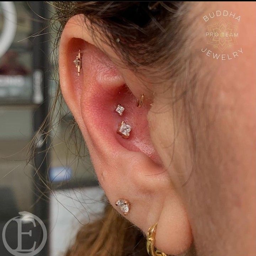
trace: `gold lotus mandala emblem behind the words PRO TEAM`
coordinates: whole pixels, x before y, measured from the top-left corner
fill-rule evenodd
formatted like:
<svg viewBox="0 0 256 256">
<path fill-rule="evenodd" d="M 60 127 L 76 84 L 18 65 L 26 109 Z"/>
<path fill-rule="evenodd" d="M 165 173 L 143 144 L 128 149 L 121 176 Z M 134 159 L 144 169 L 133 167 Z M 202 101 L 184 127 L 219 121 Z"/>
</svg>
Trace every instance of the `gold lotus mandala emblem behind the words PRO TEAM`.
<svg viewBox="0 0 256 256">
<path fill-rule="evenodd" d="M 225 49 L 231 48 L 234 44 L 238 44 L 236 37 L 238 36 L 238 26 L 231 22 L 226 22 L 224 18 L 216 21 L 208 27 L 208 44 L 212 44 L 214 48 L 219 49 L 222 53 Z"/>
</svg>

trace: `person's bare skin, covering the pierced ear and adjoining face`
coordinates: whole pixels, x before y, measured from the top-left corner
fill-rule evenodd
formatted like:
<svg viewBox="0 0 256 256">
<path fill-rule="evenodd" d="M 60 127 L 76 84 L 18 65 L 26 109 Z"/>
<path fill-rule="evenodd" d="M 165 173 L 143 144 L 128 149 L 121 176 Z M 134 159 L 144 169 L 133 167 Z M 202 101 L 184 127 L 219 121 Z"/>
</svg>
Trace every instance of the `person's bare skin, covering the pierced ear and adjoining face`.
<svg viewBox="0 0 256 256">
<path fill-rule="evenodd" d="M 116 208 L 118 198 L 128 199 L 126 218 L 145 233 L 158 222 L 160 250 L 180 254 L 194 240 L 199 256 L 256 255 L 256 5 L 217 2 L 198 7 L 205 13 L 232 10 L 241 15 L 243 55 L 214 62 L 200 52 L 207 45 L 204 38 L 192 41 L 202 63 L 196 93 L 188 95 L 196 139 L 192 155 L 182 102 L 171 105 L 157 89 L 151 94 L 138 74 L 120 64 L 113 49 L 95 44 L 81 15 L 70 18 L 60 41 L 62 94 L 110 203 Z M 197 32 L 204 31 L 202 16 L 193 17 Z M 78 49 L 79 77 L 73 64 Z M 163 87 L 168 85 L 166 81 Z M 141 94 L 146 100 L 137 108 Z M 125 107 L 122 117 L 114 112 L 118 103 Z M 166 105 L 169 111 L 162 111 Z M 116 133 L 122 120 L 133 127 L 129 139 Z"/>
</svg>

